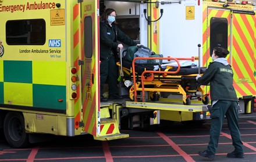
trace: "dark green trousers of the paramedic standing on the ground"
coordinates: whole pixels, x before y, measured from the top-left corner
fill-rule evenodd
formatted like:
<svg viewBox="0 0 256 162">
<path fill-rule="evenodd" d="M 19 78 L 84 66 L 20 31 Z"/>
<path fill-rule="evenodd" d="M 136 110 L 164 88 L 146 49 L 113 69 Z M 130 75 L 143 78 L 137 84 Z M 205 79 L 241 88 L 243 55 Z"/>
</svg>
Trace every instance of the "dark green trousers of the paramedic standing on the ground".
<svg viewBox="0 0 256 162">
<path fill-rule="evenodd" d="M 210 141 L 207 147 L 209 154 L 215 155 L 219 143 L 219 135 L 221 134 L 222 124 L 226 115 L 227 126 L 232 136 L 232 144 L 236 153 L 243 154 L 243 142 L 241 141 L 241 135 L 238 123 L 237 102 L 230 100 L 218 100 L 212 106 L 211 113 L 211 130 Z M 232 152 L 233 150 L 230 150 Z"/>
</svg>

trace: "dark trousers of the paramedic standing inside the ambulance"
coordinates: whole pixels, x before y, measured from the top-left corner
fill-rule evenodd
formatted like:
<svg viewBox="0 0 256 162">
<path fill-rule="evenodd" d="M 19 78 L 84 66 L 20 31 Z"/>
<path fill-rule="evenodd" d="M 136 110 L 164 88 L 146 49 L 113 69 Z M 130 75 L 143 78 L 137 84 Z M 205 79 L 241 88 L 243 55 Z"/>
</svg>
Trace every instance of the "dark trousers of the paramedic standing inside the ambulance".
<svg viewBox="0 0 256 162">
<path fill-rule="evenodd" d="M 109 59 L 101 60 L 100 64 L 100 80 L 101 80 L 101 96 L 104 93 L 104 84 L 108 80 L 108 93 L 109 95 L 118 95 L 118 74 L 116 62 L 113 56 Z"/>
</svg>

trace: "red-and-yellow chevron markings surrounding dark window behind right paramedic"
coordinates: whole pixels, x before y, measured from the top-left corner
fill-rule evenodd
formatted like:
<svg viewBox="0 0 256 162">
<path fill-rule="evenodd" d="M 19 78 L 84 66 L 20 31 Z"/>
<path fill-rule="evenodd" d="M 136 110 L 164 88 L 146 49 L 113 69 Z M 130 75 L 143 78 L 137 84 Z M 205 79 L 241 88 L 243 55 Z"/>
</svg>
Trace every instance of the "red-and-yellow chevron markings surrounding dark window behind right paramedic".
<svg viewBox="0 0 256 162">
<path fill-rule="evenodd" d="M 255 16 L 240 13 L 232 13 L 230 10 L 203 8 L 203 51 L 202 64 L 208 66 L 211 62 L 209 56 L 209 35 L 211 17 L 224 17 L 228 21 L 228 48 L 232 47 L 232 68 L 234 72 L 234 88 L 240 98 L 245 95 L 256 95 L 255 82 Z M 230 26 L 232 26 L 232 45 L 230 45 Z M 227 57 L 229 61 L 229 56 Z M 206 90 L 207 93 L 209 89 Z"/>
</svg>

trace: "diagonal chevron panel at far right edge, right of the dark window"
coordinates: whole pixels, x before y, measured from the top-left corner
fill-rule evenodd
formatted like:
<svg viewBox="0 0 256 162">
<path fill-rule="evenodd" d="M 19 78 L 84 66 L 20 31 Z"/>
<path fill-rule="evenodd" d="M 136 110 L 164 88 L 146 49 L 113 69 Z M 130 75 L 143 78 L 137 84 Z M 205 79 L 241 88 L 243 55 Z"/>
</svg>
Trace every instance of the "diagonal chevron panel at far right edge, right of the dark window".
<svg viewBox="0 0 256 162">
<path fill-rule="evenodd" d="M 234 87 L 239 97 L 255 96 L 255 16 L 233 13 L 232 25 Z"/>
</svg>

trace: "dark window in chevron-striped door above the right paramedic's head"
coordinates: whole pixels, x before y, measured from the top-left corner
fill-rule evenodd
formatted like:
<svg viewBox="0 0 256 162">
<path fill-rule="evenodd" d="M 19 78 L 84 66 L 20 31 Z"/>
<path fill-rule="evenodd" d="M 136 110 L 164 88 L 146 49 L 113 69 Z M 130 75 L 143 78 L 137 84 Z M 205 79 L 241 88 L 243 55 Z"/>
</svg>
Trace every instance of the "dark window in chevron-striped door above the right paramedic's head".
<svg viewBox="0 0 256 162">
<path fill-rule="evenodd" d="M 218 44 L 223 48 L 227 48 L 228 39 L 228 22 L 226 18 L 212 17 L 210 21 L 210 53 Z"/>
</svg>

